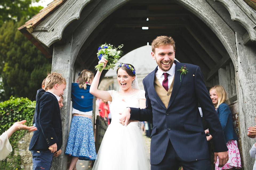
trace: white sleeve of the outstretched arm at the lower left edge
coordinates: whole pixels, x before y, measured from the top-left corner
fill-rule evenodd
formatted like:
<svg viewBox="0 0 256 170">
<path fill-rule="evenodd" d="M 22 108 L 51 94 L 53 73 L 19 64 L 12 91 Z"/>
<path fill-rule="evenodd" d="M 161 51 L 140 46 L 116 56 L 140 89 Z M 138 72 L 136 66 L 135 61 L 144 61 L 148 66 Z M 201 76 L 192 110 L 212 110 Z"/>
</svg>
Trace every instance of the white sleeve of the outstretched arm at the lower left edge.
<svg viewBox="0 0 256 170">
<path fill-rule="evenodd" d="M 8 139 L 8 135 L 6 131 L 0 136 L 0 160 L 3 160 L 8 156 L 13 148 L 11 148 L 11 144 Z"/>
</svg>

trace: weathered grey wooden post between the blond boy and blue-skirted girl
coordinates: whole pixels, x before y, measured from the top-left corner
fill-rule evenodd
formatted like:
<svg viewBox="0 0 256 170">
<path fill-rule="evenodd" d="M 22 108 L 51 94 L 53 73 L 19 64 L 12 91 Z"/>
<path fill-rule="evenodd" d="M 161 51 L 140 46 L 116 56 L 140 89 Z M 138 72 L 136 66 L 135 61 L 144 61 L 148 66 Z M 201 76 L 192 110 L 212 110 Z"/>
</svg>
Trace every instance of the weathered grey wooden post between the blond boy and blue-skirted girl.
<svg viewBox="0 0 256 170">
<path fill-rule="evenodd" d="M 67 139 L 69 136 L 69 117 L 70 117 L 70 100 L 71 100 L 71 82 L 72 82 L 72 69 L 74 56 L 71 56 L 72 49 L 72 36 L 67 39 L 65 45 L 54 45 L 53 49 L 53 62 L 51 71 L 60 73 L 66 79 L 66 89 L 64 91 L 63 108 L 61 109 L 62 120 L 62 154 L 57 158 L 53 158 L 51 170 L 66 170 L 67 169 L 67 156 L 65 155 Z"/>
</svg>

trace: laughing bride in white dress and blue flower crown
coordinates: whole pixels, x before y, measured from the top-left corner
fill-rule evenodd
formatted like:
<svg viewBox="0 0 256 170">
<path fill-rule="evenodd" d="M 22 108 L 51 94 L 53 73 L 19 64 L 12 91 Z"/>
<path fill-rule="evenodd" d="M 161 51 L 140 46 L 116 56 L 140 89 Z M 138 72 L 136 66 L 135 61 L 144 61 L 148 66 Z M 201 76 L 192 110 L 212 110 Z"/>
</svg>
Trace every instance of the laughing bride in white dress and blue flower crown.
<svg viewBox="0 0 256 170">
<path fill-rule="evenodd" d="M 102 57 L 99 63 L 106 66 Z M 111 101 L 112 120 L 102 139 L 93 170 L 148 170 L 150 169 L 147 147 L 139 128 L 139 122 L 128 126 L 119 123 L 119 113 L 126 107 L 145 108 L 145 91 L 139 90 L 135 69 L 130 64 L 120 64 L 117 69 L 117 82 L 120 90 L 98 90 L 101 72 L 97 71 L 90 87 L 90 93 L 103 100 Z"/>
</svg>

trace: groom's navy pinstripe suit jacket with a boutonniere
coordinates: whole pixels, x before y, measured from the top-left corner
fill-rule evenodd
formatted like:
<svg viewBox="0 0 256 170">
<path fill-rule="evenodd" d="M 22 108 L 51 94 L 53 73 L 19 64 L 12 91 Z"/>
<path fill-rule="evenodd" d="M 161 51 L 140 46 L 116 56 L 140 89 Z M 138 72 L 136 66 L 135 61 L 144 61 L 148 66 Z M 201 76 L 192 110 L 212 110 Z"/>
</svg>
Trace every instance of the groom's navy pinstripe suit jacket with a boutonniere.
<svg viewBox="0 0 256 170">
<path fill-rule="evenodd" d="M 166 109 L 154 88 L 156 69 L 143 79 L 146 108 L 131 108 L 131 119 L 153 122 L 150 163 L 159 164 L 166 153 L 169 140 L 184 161 L 209 159 L 208 144 L 203 129 L 198 102 L 213 136 L 214 152 L 227 151 L 222 127 L 199 66 L 174 61 L 175 77 Z M 178 71 L 186 65 L 187 74 Z M 181 75 L 181 79 L 180 79 Z M 168 154 L 168 153 L 167 153 Z"/>
</svg>

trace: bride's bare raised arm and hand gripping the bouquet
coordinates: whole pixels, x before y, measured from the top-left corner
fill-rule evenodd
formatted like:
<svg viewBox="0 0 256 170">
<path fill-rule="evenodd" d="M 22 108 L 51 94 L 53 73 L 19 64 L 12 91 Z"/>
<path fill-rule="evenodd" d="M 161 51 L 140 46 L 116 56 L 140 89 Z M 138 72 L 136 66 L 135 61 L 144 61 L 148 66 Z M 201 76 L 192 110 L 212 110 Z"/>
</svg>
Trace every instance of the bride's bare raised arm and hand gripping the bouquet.
<svg viewBox="0 0 256 170">
<path fill-rule="evenodd" d="M 104 63 L 104 67 L 106 67 L 107 60 L 102 57 L 102 59 L 99 61 L 99 63 Z M 99 78 L 101 77 L 101 72 L 97 71 L 95 74 L 95 77 L 93 79 L 93 82 L 91 83 L 90 87 L 90 94 L 99 97 L 102 100 L 107 100 L 107 101 L 112 101 L 112 97 L 109 92 L 104 91 L 104 90 L 98 90 L 98 85 L 99 85 Z"/>
</svg>

